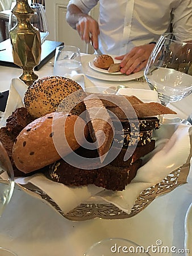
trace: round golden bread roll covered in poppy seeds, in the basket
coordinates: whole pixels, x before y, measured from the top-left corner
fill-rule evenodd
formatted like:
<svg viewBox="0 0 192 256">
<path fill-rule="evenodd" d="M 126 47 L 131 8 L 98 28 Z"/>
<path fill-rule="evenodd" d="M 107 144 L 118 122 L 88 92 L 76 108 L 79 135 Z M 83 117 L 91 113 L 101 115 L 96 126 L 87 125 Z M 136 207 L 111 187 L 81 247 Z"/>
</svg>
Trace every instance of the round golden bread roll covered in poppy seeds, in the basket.
<svg viewBox="0 0 192 256">
<path fill-rule="evenodd" d="M 76 94 L 72 94 L 77 92 Z M 73 95 L 68 97 L 69 95 Z M 48 76 L 38 79 L 28 87 L 24 94 L 24 105 L 28 112 L 34 117 L 43 117 L 45 114 L 56 112 L 64 98 L 67 100 L 62 104 L 62 111 L 70 112 L 76 105 L 75 102 L 83 100 L 84 90 L 81 85 L 72 79 L 61 76 Z M 85 110 L 83 102 L 77 104 L 72 114 L 81 114 Z"/>
</svg>

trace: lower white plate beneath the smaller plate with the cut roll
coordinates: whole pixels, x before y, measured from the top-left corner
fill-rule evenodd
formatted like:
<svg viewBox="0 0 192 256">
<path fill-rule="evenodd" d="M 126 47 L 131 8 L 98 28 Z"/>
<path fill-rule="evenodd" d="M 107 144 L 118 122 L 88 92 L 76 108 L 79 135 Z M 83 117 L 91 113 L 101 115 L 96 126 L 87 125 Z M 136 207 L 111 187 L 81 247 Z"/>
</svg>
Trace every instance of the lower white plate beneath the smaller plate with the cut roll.
<svg viewBox="0 0 192 256">
<path fill-rule="evenodd" d="M 137 73 L 131 75 L 115 75 L 112 74 L 105 74 L 98 71 L 93 70 L 89 67 L 89 61 L 93 60 L 95 55 L 83 55 L 81 56 L 81 63 L 82 63 L 82 71 L 86 76 L 93 77 L 94 79 L 99 80 L 107 80 L 107 81 L 130 81 L 135 80 L 141 76 L 143 76 L 143 71 L 139 71 Z"/>
</svg>

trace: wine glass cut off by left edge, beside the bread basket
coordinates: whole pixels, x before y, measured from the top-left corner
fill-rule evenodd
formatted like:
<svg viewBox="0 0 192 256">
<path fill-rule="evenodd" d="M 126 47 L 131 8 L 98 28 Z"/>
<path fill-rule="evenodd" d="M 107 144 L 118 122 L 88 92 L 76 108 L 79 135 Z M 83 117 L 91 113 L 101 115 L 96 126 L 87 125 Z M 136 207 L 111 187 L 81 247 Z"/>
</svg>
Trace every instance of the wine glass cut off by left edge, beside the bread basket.
<svg viewBox="0 0 192 256">
<path fill-rule="evenodd" d="M 0 216 L 9 203 L 12 192 L 14 191 L 14 171 L 7 155 L 5 148 L 0 141 Z M 13 256 L 16 254 L 12 253 L 6 248 L 0 247 L 1 256 Z"/>
</svg>

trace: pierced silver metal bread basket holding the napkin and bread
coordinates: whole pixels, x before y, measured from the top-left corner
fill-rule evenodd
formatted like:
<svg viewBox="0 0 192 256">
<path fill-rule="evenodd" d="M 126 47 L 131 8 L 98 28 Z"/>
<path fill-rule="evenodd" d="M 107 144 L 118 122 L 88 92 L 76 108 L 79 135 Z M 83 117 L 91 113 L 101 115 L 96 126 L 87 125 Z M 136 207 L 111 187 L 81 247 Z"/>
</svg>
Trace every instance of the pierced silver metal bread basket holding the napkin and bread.
<svg viewBox="0 0 192 256">
<path fill-rule="evenodd" d="M 41 199 L 47 201 L 51 204 L 53 208 L 57 210 L 65 218 L 72 221 L 85 221 L 92 218 L 103 218 L 103 219 L 120 219 L 120 218 L 130 218 L 137 213 L 141 212 L 145 207 L 147 207 L 157 196 L 164 195 L 177 188 L 179 185 L 186 183 L 187 176 L 190 171 L 190 158 L 187 160 L 186 164 L 177 170 L 169 174 L 164 180 L 156 184 L 153 187 L 145 189 L 137 197 L 135 205 L 133 206 L 131 213 L 127 214 L 115 207 L 113 204 L 102 204 L 102 203 L 85 203 L 80 204 L 78 207 L 74 208 L 67 214 L 64 214 L 59 206 L 53 201 L 46 193 L 41 191 L 41 189 L 35 187 L 32 184 L 27 184 L 21 186 L 22 189 L 27 190 L 26 192 L 33 192 L 40 196 Z"/>
</svg>

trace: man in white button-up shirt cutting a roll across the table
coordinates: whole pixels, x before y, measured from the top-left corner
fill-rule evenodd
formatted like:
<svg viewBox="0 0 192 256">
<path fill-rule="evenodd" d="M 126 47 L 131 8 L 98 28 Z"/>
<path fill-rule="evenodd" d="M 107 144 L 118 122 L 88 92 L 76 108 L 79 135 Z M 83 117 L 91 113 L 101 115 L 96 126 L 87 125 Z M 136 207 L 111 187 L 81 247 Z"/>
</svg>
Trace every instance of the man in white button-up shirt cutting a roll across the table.
<svg viewBox="0 0 192 256">
<path fill-rule="evenodd" d="M 97 22 L 89 11 L 98 2 Z M 145 67 L 155 42 L 171 28 L 192 40 L 192 0 L 70 0 L 66 20 L 86 43 L 118 55 L 127 75 Z"/>
</svg>

